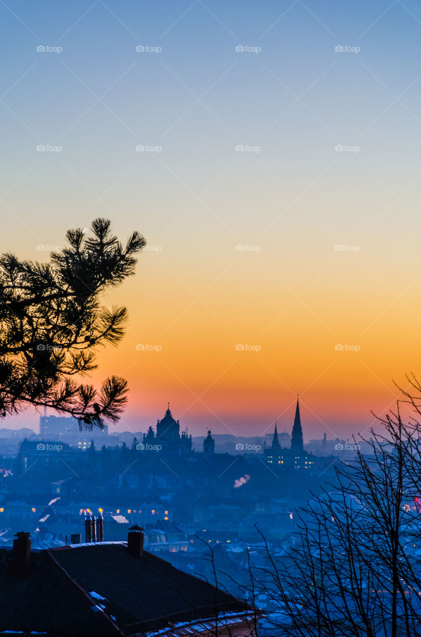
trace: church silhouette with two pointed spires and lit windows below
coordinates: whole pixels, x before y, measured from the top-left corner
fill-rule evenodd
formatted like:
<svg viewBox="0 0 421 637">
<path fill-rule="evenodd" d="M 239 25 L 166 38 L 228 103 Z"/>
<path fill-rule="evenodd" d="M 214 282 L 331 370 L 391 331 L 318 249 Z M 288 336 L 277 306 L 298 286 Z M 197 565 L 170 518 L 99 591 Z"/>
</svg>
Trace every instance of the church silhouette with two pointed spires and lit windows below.
<svg viewBox="0 0 421 637">
<path fill-rule="evenodd" d="M 293 432 L 291 434 L 291 448 L 281 447 L 278 438 L 278 427 L 275 422 L 275 431 L 273 432 L 273 440 L 270 448 L 265 448 L 265 460 L 273 468 L 295 468 L 310 469 L 314 464 L 314 457 L 304 451 L 303 447 L 303 429 L 301 427 L 300 405 L 298 403 L 295 408 L 295 417 Z"/>
</svg>

